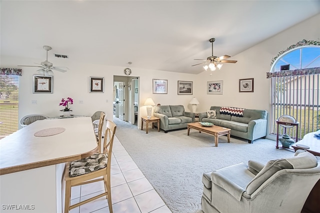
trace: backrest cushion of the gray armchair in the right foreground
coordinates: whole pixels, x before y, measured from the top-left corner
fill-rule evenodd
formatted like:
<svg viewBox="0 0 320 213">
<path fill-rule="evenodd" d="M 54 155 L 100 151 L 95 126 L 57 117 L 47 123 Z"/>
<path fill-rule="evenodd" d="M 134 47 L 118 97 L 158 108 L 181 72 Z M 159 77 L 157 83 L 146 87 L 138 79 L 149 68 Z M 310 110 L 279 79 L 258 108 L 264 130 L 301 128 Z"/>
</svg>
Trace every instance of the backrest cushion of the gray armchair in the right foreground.
<svg viewBox="0 0 320 213">
<path fill-rule="evenodd" d="M 248 183 L 247 193 L 252 194 L 266 179 L 281 169 L 312 168 L 316 166 L 316 162 L 313 154 L 302 149 L 297 150 L 293 157 L 270 160 Z"/>
</svg>

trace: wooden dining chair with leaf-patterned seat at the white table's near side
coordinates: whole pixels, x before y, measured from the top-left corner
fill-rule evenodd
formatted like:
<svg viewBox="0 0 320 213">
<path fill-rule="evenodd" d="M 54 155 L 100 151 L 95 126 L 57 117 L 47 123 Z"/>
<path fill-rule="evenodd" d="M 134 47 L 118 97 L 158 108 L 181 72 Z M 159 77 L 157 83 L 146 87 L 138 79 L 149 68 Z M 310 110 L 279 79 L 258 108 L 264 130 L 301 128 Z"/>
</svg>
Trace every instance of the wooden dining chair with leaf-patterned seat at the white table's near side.
<svg viewBox="0 0 320 213">
<path fill-rule="evenodd" d="M 69 210 L 71 210 L 72 208 L 90 202 L 102 196 L 105 196 L 107 198 L 109 212 L 112 213 L 110 167 L 115 129 L 116 125 L 112 121 L 107 120 L 102 153 L 92 154 L 91 156 L 79 160 L 74 160 L 66 164 L 63 174 L 65 180 L 64 213 L 69 212 Z M 78 202 L 76 204 L 70 205 L 72 186 L 87 184 L 96 181 L 104 182 L 103 193 Z"/>
</svg>

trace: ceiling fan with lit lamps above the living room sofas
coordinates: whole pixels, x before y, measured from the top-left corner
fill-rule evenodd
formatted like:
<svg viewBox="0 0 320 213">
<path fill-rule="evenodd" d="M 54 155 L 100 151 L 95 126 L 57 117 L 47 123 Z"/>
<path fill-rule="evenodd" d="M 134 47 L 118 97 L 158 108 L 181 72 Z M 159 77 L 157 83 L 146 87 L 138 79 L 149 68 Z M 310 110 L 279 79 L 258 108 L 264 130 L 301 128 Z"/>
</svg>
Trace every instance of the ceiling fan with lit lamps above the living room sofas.
<svg viewBox="0 0 320 213">
<path fill-rule="evenodd" d="M 194 60 L 205 60 L 205 62 L 197 63 L 192 66 L 196 66 L 196 65 L 204 64 L 204 63 L 209 63 L 209 65 L 205 65 L 205 66 L 203 66 L 203 68 L 205 70 L 210 68 L 211 71 L 214 71 L 216 69 L 216 67 L 218 69 L 220 69 L 222 66 L 222 63 L 236 63 L 237 60 L 225 60 L 225 58 L 231 57 L 229 55 L 225 54 L 220 57 L 213 55 L 213 42 L 215 41 L 215 38 L 210 38 L 209 41 L 210 41 L 211 47 L 212 47 L 212 55 L 208 56 L 206 59 L 194 59 Z"/>
</svg>

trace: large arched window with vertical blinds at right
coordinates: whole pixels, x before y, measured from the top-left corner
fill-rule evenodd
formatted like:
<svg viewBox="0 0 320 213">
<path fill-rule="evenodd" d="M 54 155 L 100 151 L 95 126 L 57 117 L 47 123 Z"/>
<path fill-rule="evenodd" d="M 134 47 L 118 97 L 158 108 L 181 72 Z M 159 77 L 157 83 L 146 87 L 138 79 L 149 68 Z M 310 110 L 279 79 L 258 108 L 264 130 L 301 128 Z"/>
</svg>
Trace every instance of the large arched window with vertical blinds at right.
<svg viewBox="0 0 320 213">
<path fill-rule="evenodd" d="M 275 119 L 288 114 L 300 124 L 298 137 L 320 128 L 320 42 L 302 40 L 272 59 L 270 133 L 276 134 Z M 295 137 L 295 128 L 289 129 Z M 283 129 L 280 129 L 283 132 Z"/>
</svg>

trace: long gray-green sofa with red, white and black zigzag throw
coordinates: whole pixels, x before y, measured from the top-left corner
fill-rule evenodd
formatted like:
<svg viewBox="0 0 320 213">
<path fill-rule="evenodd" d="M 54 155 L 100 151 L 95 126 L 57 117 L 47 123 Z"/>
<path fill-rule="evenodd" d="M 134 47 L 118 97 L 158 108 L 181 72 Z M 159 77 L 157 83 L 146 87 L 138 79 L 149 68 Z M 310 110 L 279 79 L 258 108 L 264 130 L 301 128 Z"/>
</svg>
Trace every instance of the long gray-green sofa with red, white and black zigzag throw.
<svg viewBox="0 0 320 213">
<path fill-rule="evenodd" d="M 234 107 L 233 107 L 234 108 Z M 200 122 L 230 128 L 231 135 L 247 139 L 249 143 L 258 138 L 265 138 L 267 131 L 267 111 L 244 109 L 241 116 L 220 113 L 221 106 L 211 106 L 216 111 L 216 118 L 208 118 L 207 112 L 199 113 Z"/>
</svg>

